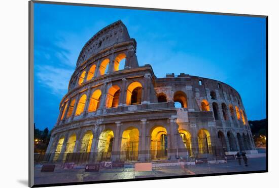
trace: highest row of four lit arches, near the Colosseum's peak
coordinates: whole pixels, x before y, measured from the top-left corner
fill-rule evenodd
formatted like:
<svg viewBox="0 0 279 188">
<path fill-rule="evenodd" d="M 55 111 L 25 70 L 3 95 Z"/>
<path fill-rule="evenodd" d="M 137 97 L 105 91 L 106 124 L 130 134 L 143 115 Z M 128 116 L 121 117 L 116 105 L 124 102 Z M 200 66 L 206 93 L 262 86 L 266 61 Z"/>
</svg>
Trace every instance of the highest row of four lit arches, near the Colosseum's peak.
<svg viewBox="0 0 279 188">
<path fill-rule="evenodd" d="M 125 59 L 126 59 L 125 53 L 118 54 L 115 57 L 114 61 L 112 62 L 113 63 L 112 72 L 124 69 Z M 110 63 L 111 63 L 110 59 L 106 58 L 101 61 L 98 69 L 97 69 L 96 64 L 91 65 L 88 72 L 86 70 L 81 72 L 79 79 L 78 79 L 78 84 L 81 85 L 82 83 L 91 80 L 92 78 L 95 77 L 95 75 L 102 76 L 104 74 L 107 74 L 109 71 Z"/>
</svg>

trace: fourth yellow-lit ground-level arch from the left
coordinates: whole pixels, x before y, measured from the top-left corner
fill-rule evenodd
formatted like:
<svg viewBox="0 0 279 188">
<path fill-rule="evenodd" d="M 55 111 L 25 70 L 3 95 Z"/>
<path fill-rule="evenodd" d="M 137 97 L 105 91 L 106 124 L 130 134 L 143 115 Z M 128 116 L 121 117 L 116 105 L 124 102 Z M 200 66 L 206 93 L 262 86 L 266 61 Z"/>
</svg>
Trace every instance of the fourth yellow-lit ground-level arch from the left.
<svg viewBox="0 0 279 188">
<path fill-rule="evenodd" d="M 98 161 L 110 161 L 114 134 L 112 130 L 104 130 L 99 136 Z"/>
</svg>

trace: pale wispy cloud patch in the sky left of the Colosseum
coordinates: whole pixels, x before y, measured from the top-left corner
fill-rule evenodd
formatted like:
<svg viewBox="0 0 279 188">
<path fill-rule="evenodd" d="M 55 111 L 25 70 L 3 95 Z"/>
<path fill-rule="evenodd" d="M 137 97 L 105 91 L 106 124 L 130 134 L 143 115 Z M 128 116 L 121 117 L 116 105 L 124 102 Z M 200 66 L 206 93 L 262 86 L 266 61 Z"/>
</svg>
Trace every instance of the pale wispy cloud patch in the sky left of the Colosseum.
<svg viewBox="0 0 279 188">
<path fill-rule="evenodd" d="M 64 95 L 68 89 L 68 82 L 73 70 L 55 68 L 53 66 L 38 66 L 38 82 L 47 88 L 53 95 Z"/>
</svg>

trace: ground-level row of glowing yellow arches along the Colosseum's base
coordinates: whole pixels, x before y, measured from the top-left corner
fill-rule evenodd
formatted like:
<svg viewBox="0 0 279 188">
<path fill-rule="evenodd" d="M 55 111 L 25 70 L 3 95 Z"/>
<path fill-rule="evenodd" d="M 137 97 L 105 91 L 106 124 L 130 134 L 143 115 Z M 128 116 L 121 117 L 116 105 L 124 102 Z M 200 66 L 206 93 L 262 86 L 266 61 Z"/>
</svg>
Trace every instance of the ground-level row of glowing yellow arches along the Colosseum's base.
<svg viewBox="0 0 279 188">
<path fill-rule="evenodd" d="M 184 149 L 187 150 L 189 155 L 193 153 L 193 142 L 198 143 L 198 152 L 200 154 L 212 154 L 212 141 L 210 132 L 205 129 L 200 129 L 197 133 L 197 140 L 193 140 L 189 131 L 179 130 L 179 136 L 184 144 Z M 163 126 L 155 126 L 150 130 L 150 159 L 151 160 L 164 160 L 167 159 L 168 150 L 170 149 L 170 140 L 167 129 Z M 65 137 L 59 138 L 56 148 L 54 161 L 58 159 L 60 153 L 64 153 L 63 159 L 67 153 L 81 152 L 89 153 L 95 152 L 97 160 L 111 160 L 115 135 L 110 129 L 106 129 L 99 134 L 96 148 L 92 148 L 93 132 L 87 131 L 81 138 L 80 146 L 76 146 L 77 135 L 73 133 L 65 141 Z M 62 150 L 63 144 L 65 149 Z M 137 161 L 140 150 L 140 131 L 136 127 L 128 127 L 122 132 L 119 143 L 120 161 Z M 79 148 L 76 148 L 79 147 Z M 76 149 L 75 149 L 76 148 Z M 95 150 L 95 151 L 94 151 Z M 114 149 L 117 150 L 117 149 Z"/>
</svg>

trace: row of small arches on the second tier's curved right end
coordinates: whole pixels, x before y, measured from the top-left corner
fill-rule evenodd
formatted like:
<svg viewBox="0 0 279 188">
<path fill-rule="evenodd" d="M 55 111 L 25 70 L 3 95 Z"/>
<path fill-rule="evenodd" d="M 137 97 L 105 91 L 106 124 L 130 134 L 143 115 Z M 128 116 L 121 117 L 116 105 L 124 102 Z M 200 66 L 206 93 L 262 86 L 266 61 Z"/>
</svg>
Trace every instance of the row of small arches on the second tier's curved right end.
<svg viewBox="0 0 279 188">
<path fill-rule="evenodd" d="M 216 120 L 219 120 L 220 114 L 219 114 L 218 104 L 216 102 L 213 102 L 212 108 L 213 108 L 214 118 Z M 246 124 L 245 112 L 242 111 L 241 109 L 239 110 L 239 108 L 237 106 L 233 107 L 232 104 L 230 104 L 229 108 L 228 108 L 225 103 L 222 103 L 221 108 L 222 108 L 221 111 L 222 111 L 224 120 L 229 120 L 229 115 L 232 119 L 234 119 L 235 118 L 234 114 L 236 114 L 237 120 L 241 119 L 243 124 Z M 210 104 L 205 99 L 203 99 L 201 101 L 201 111 L 210 111 Z"/>
</svg>

